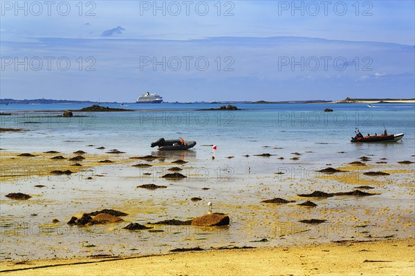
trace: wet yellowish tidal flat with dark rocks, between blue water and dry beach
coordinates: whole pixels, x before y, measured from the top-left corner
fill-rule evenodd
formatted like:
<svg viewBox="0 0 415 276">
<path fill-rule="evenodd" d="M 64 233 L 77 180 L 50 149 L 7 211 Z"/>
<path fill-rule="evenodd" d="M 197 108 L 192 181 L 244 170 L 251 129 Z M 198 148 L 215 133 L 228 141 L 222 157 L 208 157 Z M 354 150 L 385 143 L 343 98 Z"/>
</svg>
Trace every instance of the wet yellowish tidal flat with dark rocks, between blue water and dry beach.
<svg viewBox="0 0 415 276">
<path fill-rule="evenodd" d="M 86 147 L 82 149 L 88 150 Z M 347 162 L 342 159 L 332 165 L 344 172 L 325 174 L 317 172 L 317 165 L 307 162 L 284 163 L 277 161 L 277 157 L 251 157 L 248 172 L 245 165 L 241 165 L 247 162 L 246 157 L 237 155 L 234 159 L 216 155 L 218 158 L 212 161 L 210 158 L 196 159 L 196 155 L 188 151 L 183 155 L 175 153 L 145 161 L 130 159 L 128 153 L 113 155 L 105 153 L 107 151 L 109 148 L 102 150 L 102 154 L 83 154 L 86 159 L 82 161 L 68 161 L 76 154 L 30 152 L 37 156 L 19 157 L 19 152 L 1 150 L 1 261 L 165 254 L 174 248 L 196 246 L 205 250 L 223 246 L 291 248 L 338 240 L 374 242 L 385 237 L 414 237 L 414 164 L 401 165 L 390 159 L 388 164 L 376 164 L 382 157 L 378 156 L 367 161 L 367 166 L 351 166 L 349 162 L 357 159 L 353 157 L 347 158 Z M 50 159 L 58 155 L 67 159 Z M 302 160 L 306 158 L 303 153 Z M 98 162 L 105 159 L 114 163 Z M 172 164 L 176 159 L 185 159 L 188 163 Z M 413 160 L 410 156 L 401 160 L 404 159 Z M 82 166 L 71 166 L 76 162 Z M 131 166 L 133 164 L 150 164 L 151 167 L 137 168 Z M 167 169 L 176 166 L 183 168 L 181 172 L 187 177 L 182 180 L 163 179 L 162 175 L 169 172 Z M 308 170 L 297 170 L 299 166 Z M 21 168 L 27 168 L 26 172 L 21 173 Z M 282 175 L 275 175 L 279 168 Z M 228 172 L 230 169 L 232 174 Z M 71 170 L 73 174 L 57 177 L 50 175 L 52 170 Z M 363 175 L 366 171 L 383 171 L 390 175 Z M 205 174 L 200 175 L 201 172 Z M 89 177 L 92 179 L 87 181 Z M 167 188 L 137 188 L 140 184 L 150 183 Z M 36 188 L 35 184 L 45 186 Z M 314 190 L 349 192 L 362 185 L 373 187 L 367 192 L 376 195 L 298 196 Z M 204 190 L 205 187 L 209 190 Z M 32 198 L 21 201 L 3 197 L 17 192 L 27 193 Z M 202 200 L 194 202 L 190 200 L 192 197 Z M 289 203 L 261 203 L 275 197 L 287 199 Z M 297 206 L 306 200 L 317 206 Z M 208 213 L 209 201 L 214 202 L 215 212 L 230 216 L 230 226 L 122 229 L 133 222 L 147 224 L 164 219 L 193 219 Z M 129 215 L 122 217 L 124 222 L 119 224 L 86 227 L 66 224 L 74 215 L 80 217 L 82 213 L 103 208 Z M 53 219 L 59 222 L 52 223 Z M 304 219 L 325 219 L 326 222 L 320 225 L 299 223 Z M 252 255 L 259 254 L 252 252 L 255 252 Z"/>
</svg>

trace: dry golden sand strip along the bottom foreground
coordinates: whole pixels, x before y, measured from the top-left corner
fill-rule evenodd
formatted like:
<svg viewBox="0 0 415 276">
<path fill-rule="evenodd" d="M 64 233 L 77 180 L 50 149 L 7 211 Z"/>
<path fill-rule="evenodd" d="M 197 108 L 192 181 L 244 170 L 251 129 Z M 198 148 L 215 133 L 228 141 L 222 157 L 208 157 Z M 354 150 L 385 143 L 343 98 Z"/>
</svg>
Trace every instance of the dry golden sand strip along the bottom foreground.
<svg viewBox="0 0 415 276">
<path fill-rule="evenodd" d="M 3 275 L 414 275 L 415 239 L 2 262 Z"/>
</svg>

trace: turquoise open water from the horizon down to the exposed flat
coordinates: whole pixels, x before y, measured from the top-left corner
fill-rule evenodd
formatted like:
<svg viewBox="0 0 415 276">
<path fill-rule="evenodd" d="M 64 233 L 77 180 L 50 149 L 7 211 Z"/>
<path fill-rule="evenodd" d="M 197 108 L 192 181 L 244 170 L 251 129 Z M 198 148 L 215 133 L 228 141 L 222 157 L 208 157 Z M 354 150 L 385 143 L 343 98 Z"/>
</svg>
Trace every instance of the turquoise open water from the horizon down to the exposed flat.
<svg viewBox="0 0 415 276">
<path fill-rule="evenodd" d="M 375 108 L 367 108 L 366 104 L 241 103 L 238 106 L 242 110 L 239 111 L 197 111 L 218 106 L 214 104 L 127 103 L 124 108 L 137 112 L 75 112 L 75 115 L 85 117 L 72 118 L 57 117 L 60 112 L 39 111 L 75 110 L 85 106 L 0 106 L 1 112 L 12 112 L 12 115 L 0 117 L 2 128 L 31 130 L 24 135 L 18 132 L 2 134 L 1 148 L 17 151 L 72 150 L 93 144 L 146 155 L 152 150 L 149 144 L 158 137 L 183 137 L 197 141 L 198 157 L 211 153 L 208 148 L 200 147 L 204 144 L 216 144 L 217 152 L 223 155 L 263 153 L 257 150 L 261 146 L 282 147 L 279 152 L 282 154 L 312 148 L 321 154 L 316 159 L 332 152 L 333 148 L 357 157 L 365 149 L 391 157 L 414 151 L 415 106 L 409 103 L 378 104 L 374 105 Z M 106 106 L 120 107 L 115 103 Z M 333 108 L 334 112 L 323 112 L 324 108 Z M 384 126 L 389 133 L 405 133 L 402 143 L 392 146 L 349 142 L 356 127 L 364 134 L 374 135 L 382 133 Z M 266 152 L 267 148 L 263 151 Z"/>
</svg>

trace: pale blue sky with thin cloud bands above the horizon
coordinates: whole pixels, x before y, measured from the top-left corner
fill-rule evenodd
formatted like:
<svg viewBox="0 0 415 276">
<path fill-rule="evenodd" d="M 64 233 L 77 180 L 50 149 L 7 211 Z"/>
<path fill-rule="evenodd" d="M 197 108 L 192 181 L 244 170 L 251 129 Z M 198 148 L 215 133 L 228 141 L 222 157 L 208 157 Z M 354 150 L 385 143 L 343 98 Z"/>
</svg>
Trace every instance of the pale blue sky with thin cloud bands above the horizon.
<svg viewBox="0 0 415 276">
<path fill-rule="evenodd" d="M 1 1 L 0 97 L 415 97 L 414 1 Z"/>
</svg>

